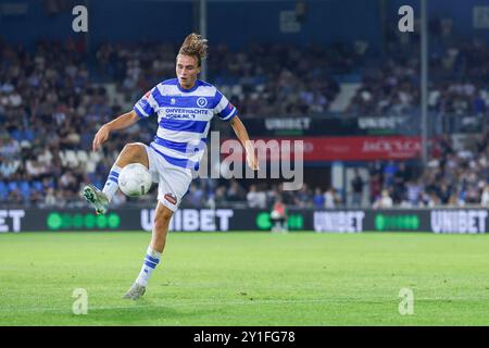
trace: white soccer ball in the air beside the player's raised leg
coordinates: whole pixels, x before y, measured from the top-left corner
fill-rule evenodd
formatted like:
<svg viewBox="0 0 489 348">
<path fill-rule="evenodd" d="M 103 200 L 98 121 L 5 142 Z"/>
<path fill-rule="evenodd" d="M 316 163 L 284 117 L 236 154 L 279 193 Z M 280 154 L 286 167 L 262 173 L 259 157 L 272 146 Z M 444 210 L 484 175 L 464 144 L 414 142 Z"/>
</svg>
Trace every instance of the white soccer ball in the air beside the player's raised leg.
<svg viewBox="0 0 489 348">
<path fill-rule="evenodd" d="M 129 197 L 148 194 L 152 182 L 150 172 L 141 163 L 127 164 L 118 175 L 118 187 Z"/>
</svg>

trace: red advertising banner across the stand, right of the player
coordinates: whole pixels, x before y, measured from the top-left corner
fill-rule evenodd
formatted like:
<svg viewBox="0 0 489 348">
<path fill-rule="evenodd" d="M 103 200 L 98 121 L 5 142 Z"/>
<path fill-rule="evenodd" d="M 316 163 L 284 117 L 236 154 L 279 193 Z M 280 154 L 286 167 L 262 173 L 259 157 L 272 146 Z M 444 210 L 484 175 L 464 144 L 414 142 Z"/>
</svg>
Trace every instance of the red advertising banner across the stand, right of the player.
<svg viewBox="0 0 489 348">
<path fill-rule="evenodd" d="M 266 152 L 267 159 L 271 160 L 284 159 L 287 151 L 292 152 L 290 157 L 293 159 L 294 150 L 299 150 L 298 140 L 303 141 L 303 159 L 308 162 L 409 160 L 418 158 L 422 153 L 421 137 L 280 137 L 254 140 L 262 153 Z"/>
</svg>

